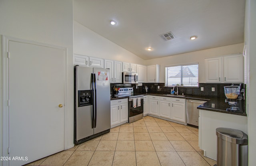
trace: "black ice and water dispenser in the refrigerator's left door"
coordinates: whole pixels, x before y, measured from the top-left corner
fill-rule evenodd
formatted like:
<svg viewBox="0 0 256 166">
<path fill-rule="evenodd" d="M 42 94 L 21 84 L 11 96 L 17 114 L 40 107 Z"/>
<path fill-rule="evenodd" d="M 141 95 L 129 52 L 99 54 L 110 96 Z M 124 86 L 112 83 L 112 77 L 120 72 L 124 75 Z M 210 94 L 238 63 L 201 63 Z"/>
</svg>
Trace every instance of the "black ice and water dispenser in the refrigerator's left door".
<svg viewBox="0 0 256 166">
<path fill-rule="evenodd" d="M 86 105 L 92 105 L 92 91 L 83 90 L 78 91 L 78 107 L 83 107 Z"/>
</svg>

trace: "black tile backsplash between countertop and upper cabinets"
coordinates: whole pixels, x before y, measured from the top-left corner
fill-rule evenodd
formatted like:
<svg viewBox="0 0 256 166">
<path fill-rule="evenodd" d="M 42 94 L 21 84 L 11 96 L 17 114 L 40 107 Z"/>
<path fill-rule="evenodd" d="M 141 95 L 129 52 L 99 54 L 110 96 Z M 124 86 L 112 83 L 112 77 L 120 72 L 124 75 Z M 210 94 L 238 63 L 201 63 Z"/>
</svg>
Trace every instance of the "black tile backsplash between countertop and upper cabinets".
<svg viewBox="0 0 256 166">
<path fill-rule="evenodd" d="M 178 87 L 178 94 L 226 98 L 224 86 L 229 85 L 231 83 L 199 83 L 199 87 Z M 173 89 L 173 87 L 165 87 L 164 83 L 142 83 L 142 86 L 138 86 L 137 89 L 135 84 L 111 84 L 111 93 L 114 86 L 133 87 L 134 93 L 146 93 L 145 86 L 148 87 L 148 93 L 170 94 L 171 89 Z M 201 91 L 201 87 L 204 87 L 204 91 Z M 212 91 L 212 87 L 214 87 L 215 91 Z M 176 87 L 174 90 L 177 91 Z"/>
</svg>

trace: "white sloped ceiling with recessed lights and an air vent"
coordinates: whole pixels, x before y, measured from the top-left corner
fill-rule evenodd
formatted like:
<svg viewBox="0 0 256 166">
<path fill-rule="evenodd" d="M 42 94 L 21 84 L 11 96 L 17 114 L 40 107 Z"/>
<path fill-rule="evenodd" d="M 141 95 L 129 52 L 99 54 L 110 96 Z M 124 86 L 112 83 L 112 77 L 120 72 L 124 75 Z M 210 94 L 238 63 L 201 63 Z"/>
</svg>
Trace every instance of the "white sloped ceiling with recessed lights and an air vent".
<svg viewBox="0 0 256 166">
<path fill-rule="evenodd" d="M 244 16 L 245 0 L 74 0 L 75 21 L 142 59 L 243 43 Z"/>
</svg>

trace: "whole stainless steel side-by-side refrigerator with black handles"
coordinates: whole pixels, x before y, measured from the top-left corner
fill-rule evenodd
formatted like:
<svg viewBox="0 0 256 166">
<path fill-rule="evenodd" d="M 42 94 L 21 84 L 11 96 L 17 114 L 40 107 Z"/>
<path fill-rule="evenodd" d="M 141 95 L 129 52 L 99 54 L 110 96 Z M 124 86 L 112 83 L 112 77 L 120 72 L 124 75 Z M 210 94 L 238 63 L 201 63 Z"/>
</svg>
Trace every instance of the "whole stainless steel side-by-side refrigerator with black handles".
<svg viewBox="0 0 256 166">
<path fill-rule="evenodd" d="M 74 67 L 74 143 L 110 132 L 109 69 Z"/>
</svg>

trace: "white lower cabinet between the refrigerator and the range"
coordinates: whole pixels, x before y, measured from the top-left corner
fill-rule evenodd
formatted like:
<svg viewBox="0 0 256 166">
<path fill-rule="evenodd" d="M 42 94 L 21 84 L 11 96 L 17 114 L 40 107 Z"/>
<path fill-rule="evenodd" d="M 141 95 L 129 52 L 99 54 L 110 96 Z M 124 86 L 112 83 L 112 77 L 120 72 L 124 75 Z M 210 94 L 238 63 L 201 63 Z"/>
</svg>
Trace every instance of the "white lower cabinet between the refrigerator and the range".
<svg viewBox="0 0 256 166">
<path fill-rule="evenodd" d="M 128 122 L 128 99 L 110 101 L 111 128 Z"/>
</svg>

